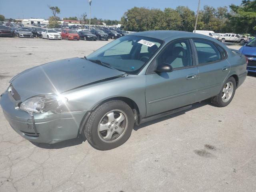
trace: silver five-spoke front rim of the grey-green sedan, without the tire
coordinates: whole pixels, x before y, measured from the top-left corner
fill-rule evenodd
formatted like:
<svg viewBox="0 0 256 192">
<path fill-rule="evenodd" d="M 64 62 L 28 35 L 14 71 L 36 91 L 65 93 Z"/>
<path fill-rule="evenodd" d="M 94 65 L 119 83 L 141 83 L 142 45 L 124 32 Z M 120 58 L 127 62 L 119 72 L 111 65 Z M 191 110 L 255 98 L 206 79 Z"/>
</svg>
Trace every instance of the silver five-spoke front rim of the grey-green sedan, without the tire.
<svg viewBox="0 0 256 192">
<path fill-rule="evenodd" d="M 98 124 L 98 136 L 106 143 L 113 143 L 122 138 L 128 127 L 127 115 L 122 110 L 107 112 Z"/>
</svg>

